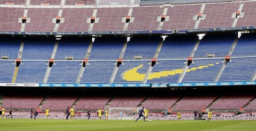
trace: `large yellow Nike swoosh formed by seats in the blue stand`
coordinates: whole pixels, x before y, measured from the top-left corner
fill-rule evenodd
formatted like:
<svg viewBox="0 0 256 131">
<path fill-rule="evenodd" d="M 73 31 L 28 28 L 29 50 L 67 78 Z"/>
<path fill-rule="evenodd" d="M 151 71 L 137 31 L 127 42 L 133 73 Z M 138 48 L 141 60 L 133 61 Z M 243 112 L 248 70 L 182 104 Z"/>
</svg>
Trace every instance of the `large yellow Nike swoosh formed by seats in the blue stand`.
<svg viewBox="0 0 256 131">
<path fill-rule="evenodd" d="M 215 64 L 220 64 L 219 62 L 216 62 Z M 209 66 L 214 66 L 214 64 L 208 64 L 205 66 L 199 66 L 199 67 L 192 67 L 190 69 L 187 69 L 187 72 L 195 71 L 198 69 L 207 68 Z M 137 70 L 143 67 L 143 64 L 140 66 L 134 67 L 132 69 L 129 69 L 123 74 L 123 79 L 126 81 L 143 81 L 146 77 L 146 74 L 138 73 Z M 152 72 L 149 74 L 148 80 L 152 80 L 155 78 L 161 78 L 161 77 L 167 77 L 167 76 L 173 76 L 175 74 L 182 74 L 183 69 L 175 69 L 172 71 L 160 71 L 160 72 Z"/>
</svg>

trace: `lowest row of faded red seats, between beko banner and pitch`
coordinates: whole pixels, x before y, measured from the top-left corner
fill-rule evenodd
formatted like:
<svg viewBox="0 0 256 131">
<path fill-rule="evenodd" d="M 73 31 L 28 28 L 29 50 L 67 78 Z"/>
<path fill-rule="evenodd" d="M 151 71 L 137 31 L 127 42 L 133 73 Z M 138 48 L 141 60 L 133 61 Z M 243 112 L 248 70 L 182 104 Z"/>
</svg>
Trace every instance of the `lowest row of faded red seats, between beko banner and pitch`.
<svg viewBox="0 0 256 131">
<path fill-rule="evenodd" d="M 172 107 L 174 112 L 201 110 L 208 107 L 214 111 L 237 111 L 244 107 L 245 111 L 255 111 L 255 96 L 223 95 L 223 96 L 4 96 L 3 106 L 14 109 L 39 107 L 44 100 L 42 110 L 62 111 L 74 105 L 76 110 L 97 110 L 106 107 L 147 107 L 151 110 L 165 110 Z M 112 99 L 112 100 L 111 100 Z M 111 101 L 111 102 L 110 102 Z M 251 102 L 250 102 L 251 101 Z M 74 102 L 76 102 L 74 104 Z M 247 104 L 249 103 L 249 104 Z"/>
</svg>

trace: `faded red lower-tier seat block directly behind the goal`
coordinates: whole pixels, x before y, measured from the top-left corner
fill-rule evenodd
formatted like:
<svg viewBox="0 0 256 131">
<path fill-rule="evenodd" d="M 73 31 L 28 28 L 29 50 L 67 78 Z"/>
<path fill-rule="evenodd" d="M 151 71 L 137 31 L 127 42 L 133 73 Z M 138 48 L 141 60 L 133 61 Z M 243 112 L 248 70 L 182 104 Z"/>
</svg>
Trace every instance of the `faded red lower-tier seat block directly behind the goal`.
<svg viewBox="0 0 256 131">
<path fill-rule="evenodd" d="M 144 96 L 117 96 L 109 107 L 137 107 L 144 99 Z"/>
</svg>

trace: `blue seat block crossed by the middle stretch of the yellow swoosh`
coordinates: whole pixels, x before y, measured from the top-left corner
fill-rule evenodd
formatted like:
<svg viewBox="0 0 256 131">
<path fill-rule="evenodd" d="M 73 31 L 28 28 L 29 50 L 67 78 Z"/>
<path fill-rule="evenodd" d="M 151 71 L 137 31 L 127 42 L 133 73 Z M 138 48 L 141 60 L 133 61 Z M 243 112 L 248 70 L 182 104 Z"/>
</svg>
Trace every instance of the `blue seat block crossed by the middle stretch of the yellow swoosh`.
<svg viewBox="0 0 256 131">
<path fill-rule="evenodd" d="M 154 65 L 147 82 L 168 83 L 177 82 L 182 74 L 185 60 L 159 60 Z"/>
</svg>

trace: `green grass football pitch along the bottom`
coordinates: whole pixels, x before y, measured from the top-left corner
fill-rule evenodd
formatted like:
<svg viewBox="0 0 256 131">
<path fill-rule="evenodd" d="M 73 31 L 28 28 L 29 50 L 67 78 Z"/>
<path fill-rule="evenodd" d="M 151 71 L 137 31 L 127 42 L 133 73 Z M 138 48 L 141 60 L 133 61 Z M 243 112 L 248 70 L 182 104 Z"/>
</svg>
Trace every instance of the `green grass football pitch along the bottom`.
<svg viewBox="0 0 256 131">
<path fill-rule="evenodd" d="M 256 121 L 0 119 L 0 131 L 255 131 Z"/>
</svg>

